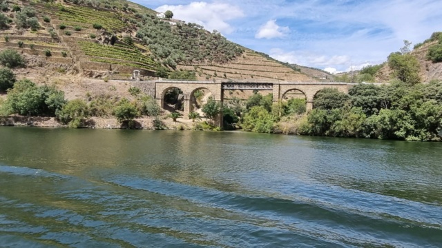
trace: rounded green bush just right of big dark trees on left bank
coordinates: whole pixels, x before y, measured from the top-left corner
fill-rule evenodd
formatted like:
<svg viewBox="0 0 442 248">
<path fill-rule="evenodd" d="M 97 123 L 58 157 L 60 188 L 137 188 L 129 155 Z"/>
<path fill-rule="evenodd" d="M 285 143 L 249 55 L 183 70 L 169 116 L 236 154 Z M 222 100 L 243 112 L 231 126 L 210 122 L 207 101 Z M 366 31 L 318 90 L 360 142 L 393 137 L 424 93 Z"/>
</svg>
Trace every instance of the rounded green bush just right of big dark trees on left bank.
<svg viewBox="0 0 442 248">
<path fill-rule="evenodd" d="M 68 101 L 68 103 L 57 112 L 57 118 L 61 123 L 73 128 L 79 127 L 81 125 L 81 119 L 88 118 L 88 116 L 89 107 L 86 102 L 81 99 Z"/>
</svg>

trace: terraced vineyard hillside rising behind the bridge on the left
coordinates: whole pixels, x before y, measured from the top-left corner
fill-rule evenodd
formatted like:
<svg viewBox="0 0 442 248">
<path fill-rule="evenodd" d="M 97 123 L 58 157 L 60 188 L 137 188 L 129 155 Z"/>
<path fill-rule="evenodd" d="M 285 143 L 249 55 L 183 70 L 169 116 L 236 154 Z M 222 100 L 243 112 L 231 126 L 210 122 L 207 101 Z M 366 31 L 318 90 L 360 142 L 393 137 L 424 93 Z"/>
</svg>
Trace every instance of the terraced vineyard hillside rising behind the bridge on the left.
<svg viewBox="0 0 442 248">
<path fill-rule="evenodd" d="M 17 75 L 58 82 L 73 92 L 84 92 L 85 86 L 75 89 L 72 83 L 129 79 L 133 70 L 144 79 L 189 70 L 199 80 L 316 81 L 217 32 L 159 18 L 128 1 L 10 0 L 1 3 L 0 13 L 0 20 L 7 20 L 0 25 L 0 50 L 17 50 L 28 62 Z"/>
</svg>

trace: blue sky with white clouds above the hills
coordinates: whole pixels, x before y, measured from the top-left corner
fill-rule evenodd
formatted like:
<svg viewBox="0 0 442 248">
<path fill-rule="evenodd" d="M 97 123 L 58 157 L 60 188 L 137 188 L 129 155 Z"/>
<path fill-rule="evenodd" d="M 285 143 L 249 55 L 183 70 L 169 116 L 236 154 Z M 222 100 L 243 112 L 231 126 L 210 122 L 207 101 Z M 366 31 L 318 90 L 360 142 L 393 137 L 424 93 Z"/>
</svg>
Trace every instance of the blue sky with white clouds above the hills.
<svg viewBox="0 0 442 248">
<path fill-rule="evenodd" d="M 135 0 L 274 59 L 348 72 L 442 31 L 441 0 Z"/>
</svg>

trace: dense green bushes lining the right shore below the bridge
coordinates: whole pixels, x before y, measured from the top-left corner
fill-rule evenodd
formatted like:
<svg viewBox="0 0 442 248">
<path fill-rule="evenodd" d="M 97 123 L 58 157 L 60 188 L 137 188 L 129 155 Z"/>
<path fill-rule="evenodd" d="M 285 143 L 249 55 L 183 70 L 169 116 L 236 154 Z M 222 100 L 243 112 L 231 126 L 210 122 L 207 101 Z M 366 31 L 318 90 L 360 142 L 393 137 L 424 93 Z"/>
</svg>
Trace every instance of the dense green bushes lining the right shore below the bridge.
<svg viewBox="0 0 442 248">
<path fill-rule="evenodd" d="M 273 104 L 271 109 L 267 105 L 261 101 L 245 110 L 240 122 L 244 130 L 402 141 L 442 139 L 442 81 L 359 84 L 349 94 L 327 88 L 316 94 L 314 110 L 307 114 L 290 101 Z"/>
</svg>

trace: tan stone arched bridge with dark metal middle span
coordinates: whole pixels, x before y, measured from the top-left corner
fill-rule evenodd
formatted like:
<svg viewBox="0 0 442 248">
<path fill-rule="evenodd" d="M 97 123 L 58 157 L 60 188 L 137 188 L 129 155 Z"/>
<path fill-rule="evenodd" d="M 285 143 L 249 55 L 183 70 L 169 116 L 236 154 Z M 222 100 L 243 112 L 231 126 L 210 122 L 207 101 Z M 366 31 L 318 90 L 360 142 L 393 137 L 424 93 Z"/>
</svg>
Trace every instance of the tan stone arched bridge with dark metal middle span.
<svg viewBox="0 0 442 248">
<path fill-rule="evenodd" d="M 286 81 L 155 81 L 155 99 L 161 107 L 164 107 L 164 95 L 172 88 L 182 90 L 184 94 L 184 118 L 188 118 L 192 111 L 192 96 L 197 90 L 209 90 L 215 101 L 222 102 L 224 90 L 272 90 L 273 102 L 283 99 L 291 90 L 297 90 L 304 94 L 307 100 L 307 111 L 313 109 L 313 99 L 316 93 L 325 88 L 336 88 L 340 92 L 347 93 L 354 83 L 302 83 Z"/>
</svg>

